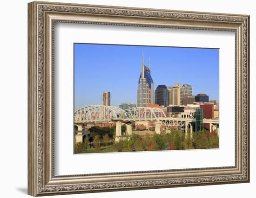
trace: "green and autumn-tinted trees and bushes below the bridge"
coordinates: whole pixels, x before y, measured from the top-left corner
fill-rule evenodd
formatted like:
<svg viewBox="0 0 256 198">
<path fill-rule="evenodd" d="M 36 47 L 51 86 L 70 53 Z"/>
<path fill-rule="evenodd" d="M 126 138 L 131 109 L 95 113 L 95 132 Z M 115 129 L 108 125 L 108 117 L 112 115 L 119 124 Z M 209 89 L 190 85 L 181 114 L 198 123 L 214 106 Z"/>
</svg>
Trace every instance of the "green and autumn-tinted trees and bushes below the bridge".
<svg viewBox="0 0 256 198">
<path fill-rule="evenodd" d="M 110 129 L 110 130 L 109 130 Z M 185 137 L 181 130 L 171 130 L 170 133 L 146 134 L 141 137 L 139 134 L 123 136 L 119 141 L 115 140 L 115 129 L 109 128 L 90 129 L 90 138 L 83 143 L 77 143 L 74 153 L 105 153 L 105 152 L 135 152 L 135 151 L 162 151 L 182 149 L 208 149 L 218 148 L 219 138 L 216 133 L 209 133 L 203 129 L 190 138 Z"/>
</svg>

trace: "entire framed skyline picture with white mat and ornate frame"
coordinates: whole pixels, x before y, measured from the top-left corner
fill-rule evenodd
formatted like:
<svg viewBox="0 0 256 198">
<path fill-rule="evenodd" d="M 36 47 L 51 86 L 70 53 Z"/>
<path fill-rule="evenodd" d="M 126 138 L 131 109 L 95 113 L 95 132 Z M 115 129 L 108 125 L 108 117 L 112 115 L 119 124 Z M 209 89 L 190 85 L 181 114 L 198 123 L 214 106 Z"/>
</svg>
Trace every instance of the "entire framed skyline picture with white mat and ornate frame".
<svg viewBox="0 0 256 198">
<path fill-rule="evenodd" d="M 249 182 L 249 16 L 28 4 L 28 194 Z"/>
</svg>

